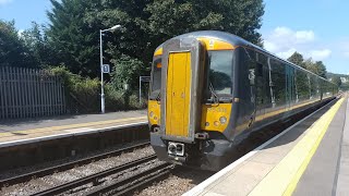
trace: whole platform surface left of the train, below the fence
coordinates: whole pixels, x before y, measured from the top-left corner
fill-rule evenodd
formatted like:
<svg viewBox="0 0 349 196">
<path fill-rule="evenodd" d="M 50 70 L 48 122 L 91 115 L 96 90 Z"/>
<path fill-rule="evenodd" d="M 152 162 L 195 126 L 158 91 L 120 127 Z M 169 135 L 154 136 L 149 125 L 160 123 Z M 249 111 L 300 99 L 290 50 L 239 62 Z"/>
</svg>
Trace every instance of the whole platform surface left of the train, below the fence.
<svg viewBox="0 0 349 196">
<path fill-rule="evenodd" d="M 0 148 L 145 123 L 146 110 L 5 121 L 0 123 Z"/>
</svg>

